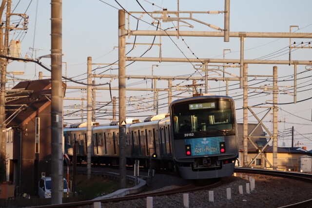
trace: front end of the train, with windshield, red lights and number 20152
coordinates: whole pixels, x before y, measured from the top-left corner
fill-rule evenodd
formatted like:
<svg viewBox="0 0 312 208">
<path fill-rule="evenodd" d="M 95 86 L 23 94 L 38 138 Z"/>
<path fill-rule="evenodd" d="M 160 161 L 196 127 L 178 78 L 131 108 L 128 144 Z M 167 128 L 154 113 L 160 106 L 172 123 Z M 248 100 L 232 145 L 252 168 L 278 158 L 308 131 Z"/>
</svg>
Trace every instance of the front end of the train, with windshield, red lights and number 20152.
<svg viewBox="0 0 312 208">
<path fill-rule="evenodd" d="M 232 175 L 238 156 L 234 100 L 198 96 L 170 105 L 173 156 L 184 179 Z"/>
</svg>

